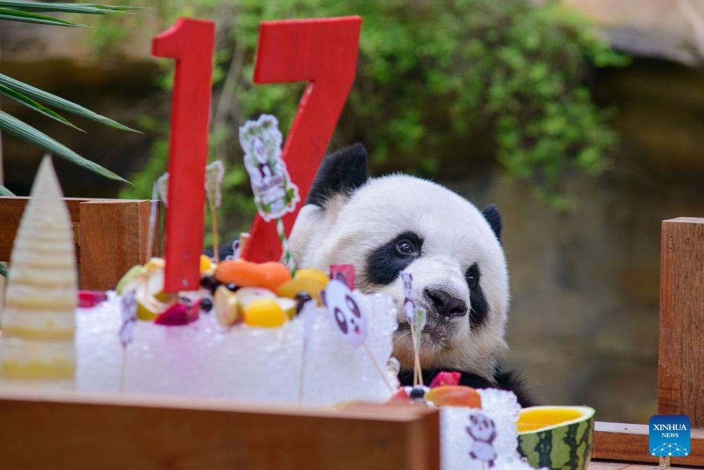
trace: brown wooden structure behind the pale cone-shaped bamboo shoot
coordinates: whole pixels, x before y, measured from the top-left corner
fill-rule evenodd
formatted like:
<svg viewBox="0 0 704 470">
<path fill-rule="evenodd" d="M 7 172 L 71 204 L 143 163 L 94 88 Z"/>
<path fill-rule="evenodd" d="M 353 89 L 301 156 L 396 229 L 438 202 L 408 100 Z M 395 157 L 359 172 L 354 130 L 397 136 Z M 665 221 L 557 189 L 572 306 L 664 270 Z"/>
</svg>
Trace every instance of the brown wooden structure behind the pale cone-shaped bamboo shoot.
<svg viewBox="0 0 704 470">
<path fill-rule="evenodd" d="M 28 197 L 0 197 L 0 261 L 9 261 Z M 135 264 L 147 261 L 149 201 L 66 198 L 82 289 L 113 289 Z M 158 218 L 157 218 L 158 220 Z M 151 253 L 161 253 L 159 224 Z"/>
</svg>

